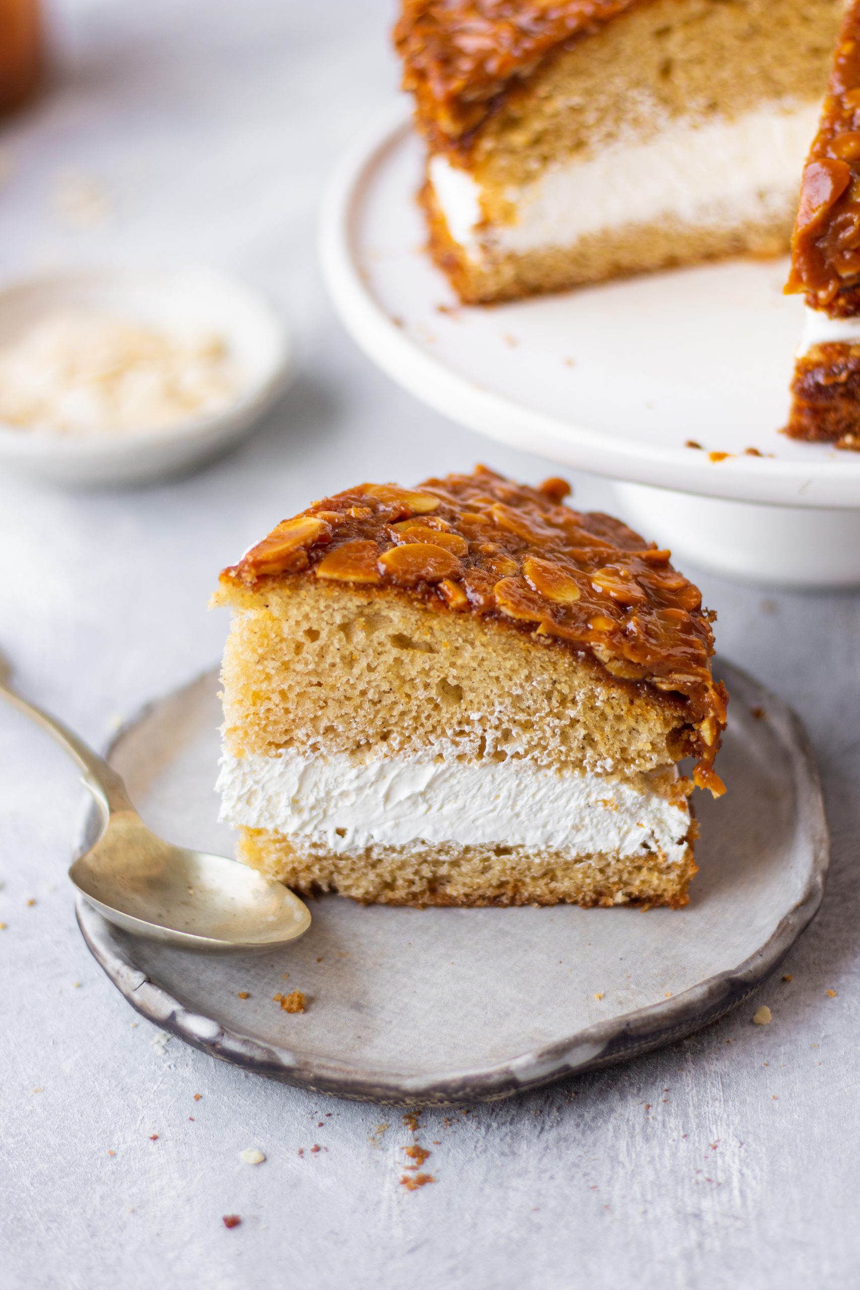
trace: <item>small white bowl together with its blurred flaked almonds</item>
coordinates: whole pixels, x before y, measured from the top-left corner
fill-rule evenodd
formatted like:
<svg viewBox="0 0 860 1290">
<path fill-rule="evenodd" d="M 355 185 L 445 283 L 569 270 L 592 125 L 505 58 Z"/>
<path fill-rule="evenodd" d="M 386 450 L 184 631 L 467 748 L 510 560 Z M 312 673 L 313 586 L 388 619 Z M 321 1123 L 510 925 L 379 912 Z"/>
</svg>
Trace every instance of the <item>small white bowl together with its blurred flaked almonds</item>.
<svg viewBox="0 0 860 1290">
<path fill-rule="evenodd" d="M 282 393 L 277 312 L 204 268 L 93 268 L 0 289 L 0 459 L 58 484 L 143 484 L 249 433 Z"/>
</svg>

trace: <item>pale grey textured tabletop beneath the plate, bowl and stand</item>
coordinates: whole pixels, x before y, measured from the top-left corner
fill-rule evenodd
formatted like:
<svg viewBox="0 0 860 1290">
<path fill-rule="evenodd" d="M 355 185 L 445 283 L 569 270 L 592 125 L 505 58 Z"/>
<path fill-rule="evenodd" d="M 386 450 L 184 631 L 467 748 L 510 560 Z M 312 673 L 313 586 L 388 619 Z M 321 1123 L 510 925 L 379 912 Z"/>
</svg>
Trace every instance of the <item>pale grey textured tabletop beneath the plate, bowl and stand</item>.
<svg viewBox="0 0 860 1290">
<path fill-rule="evenodd" d="M 0 128 L 4 276 L 200 258 L 269 290 L 303 344 L 282 405 L 197 476 L 80 497 L 0 480 L 0 640 L 22 688 L 97 743 L 217 658 L 218 568 L 308 497 L 482 458 L 548 473 L 401 393 L 325 302 L 315 209 L 391 95 L 388 15 L 382 0 L 66 0 L 53 94 Z M 102 227 L 52 204 L 64 170 L 111 195 Z M 576 484 L 611 507 L 606 485 Z M 793 980 L 627 1067 L 422 1113 L 436 1182 L 413 1192 L 398 1112 L 242 1077 L 133 1024 L 73 921 L 73 773 L 0 711 L 4 1287 L 856 1285 L 860 602 L 701 584 L 721 650 L 801 712 L 824 775 L 833 868 Z M 767 1027 L 750 1024 L 759 1002 Z M 240 1162 L 250 1146 L 266 1164 Z"/>
</svg>

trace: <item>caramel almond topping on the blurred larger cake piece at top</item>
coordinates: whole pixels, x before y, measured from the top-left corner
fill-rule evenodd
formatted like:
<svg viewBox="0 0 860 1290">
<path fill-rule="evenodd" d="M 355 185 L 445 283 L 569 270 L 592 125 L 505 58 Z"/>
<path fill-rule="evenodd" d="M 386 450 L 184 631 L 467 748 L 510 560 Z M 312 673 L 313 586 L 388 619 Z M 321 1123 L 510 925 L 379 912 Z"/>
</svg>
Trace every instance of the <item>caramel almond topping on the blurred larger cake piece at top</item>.
<svg viewBox="0 0 860 1290">
<path fill-rule="evenodd" d="M 435 148 L 464 143 L 518 80 L 645 0 L 402 0 L 404 89 Z"/>
</svg>

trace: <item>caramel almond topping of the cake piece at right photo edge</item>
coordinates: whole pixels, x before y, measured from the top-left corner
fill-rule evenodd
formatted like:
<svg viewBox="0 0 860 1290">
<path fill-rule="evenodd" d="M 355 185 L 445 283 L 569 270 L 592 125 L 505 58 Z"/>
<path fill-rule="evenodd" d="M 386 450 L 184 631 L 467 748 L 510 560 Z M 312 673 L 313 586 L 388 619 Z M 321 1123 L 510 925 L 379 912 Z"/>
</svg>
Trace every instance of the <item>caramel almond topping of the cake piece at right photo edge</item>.
<svg viewBox="0 0 860 1290">
<path fill-rule="evenodd" d="M 788 293 L 830 317 L 860 313 L 860 0 L 842 21 L 819 133 L 803 170 Z"/>
</svg>

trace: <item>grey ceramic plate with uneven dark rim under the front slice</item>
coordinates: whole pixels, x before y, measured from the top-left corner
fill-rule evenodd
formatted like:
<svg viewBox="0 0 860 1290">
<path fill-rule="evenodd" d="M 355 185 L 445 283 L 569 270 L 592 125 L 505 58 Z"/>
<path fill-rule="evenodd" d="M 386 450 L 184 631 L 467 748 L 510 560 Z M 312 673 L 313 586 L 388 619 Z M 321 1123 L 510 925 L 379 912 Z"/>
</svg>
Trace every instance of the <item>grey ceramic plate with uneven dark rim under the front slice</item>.
<svg viewBox="0 0 860 1290">
<path fill-rule="evenodd" d="M 295 944 L 224 958 L 126 935 L 85 902 L 81 931 L 159 1026 L 342 1096 L 500 1098 L 677 1040 L 772 971 L 817 909 L 828 863 L 797 717 L 738 668 L 721 672 L 728 793 L 696 795 L 700 873 L 686 909 L 395 909 L 325 897 Z M 111 760 L 157 832 L 232 854 L 231 831 L 215 822 L 217 689 L 213 671 L 147 708 Z M 308 998 L 302 1015 L 272 997 L 294 988 Z"/>
</svg>

